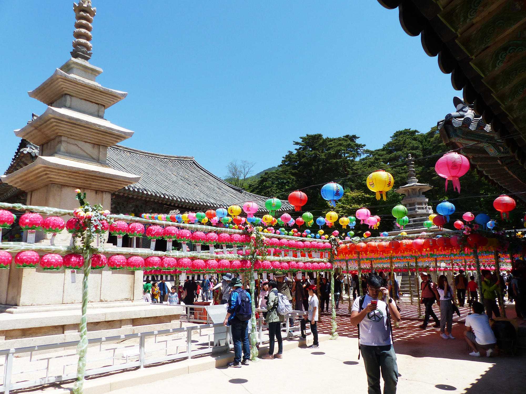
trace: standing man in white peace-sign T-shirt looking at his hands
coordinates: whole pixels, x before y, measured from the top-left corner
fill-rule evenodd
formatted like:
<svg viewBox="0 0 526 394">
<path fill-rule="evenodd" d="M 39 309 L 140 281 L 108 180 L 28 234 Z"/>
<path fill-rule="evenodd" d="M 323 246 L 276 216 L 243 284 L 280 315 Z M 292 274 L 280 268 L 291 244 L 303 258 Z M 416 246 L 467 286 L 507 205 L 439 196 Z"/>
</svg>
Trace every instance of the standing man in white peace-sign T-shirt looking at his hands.
<svg viewBox="0 0 526 394">
<path fill-rule="evenodd" d="M 367 278 L 367 294 L 357 298 L 352 305 L 351 324 L 359 325 L 360 351 L 367 374 L 369 394 L 381 393 L 380 368 L 383 394 L 395 394 L 398 383 L 398 365 L 391 335 L 390 316 L 395 322 L 400 313 L 395 300 L 383 286 L 378 275 Z"/>
</svg>

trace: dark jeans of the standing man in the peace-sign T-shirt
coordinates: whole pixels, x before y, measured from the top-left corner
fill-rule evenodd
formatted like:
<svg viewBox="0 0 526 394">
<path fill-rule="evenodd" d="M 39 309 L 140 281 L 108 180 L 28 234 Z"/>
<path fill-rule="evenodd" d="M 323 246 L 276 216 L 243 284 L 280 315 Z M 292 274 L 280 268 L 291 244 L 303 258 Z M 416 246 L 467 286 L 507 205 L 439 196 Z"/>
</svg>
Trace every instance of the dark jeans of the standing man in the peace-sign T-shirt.
<svg viewBox="0 0 526 394">
<path fill-rule="evenodd" d="M 383 378 L 383 394 L 395 394 L 398 382 L 398 365 L 395 348 L 387 346 L 360 346 L 363 364 L 367 374 L 368 394 L 382 394 L 380 369 Z"/>
</svg>

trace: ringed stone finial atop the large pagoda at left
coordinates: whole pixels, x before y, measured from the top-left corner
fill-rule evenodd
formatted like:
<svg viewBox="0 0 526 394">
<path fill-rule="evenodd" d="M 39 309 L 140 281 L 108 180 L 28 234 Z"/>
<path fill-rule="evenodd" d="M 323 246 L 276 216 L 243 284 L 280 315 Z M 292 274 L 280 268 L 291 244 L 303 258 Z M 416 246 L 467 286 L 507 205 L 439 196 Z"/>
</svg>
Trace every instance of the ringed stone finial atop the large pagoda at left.
<svg viewBox="0 0 526 394">
<path fill-rule="evenodd" d="M 75 11 L 75 31 L 73 32 L 73 51 L 71 56 L 76 59 L 89 60 L 93 53 L 92 34 L 90 33 L 93 29 L 92 22 L 93 17 L 97 13 L 97 8 L 92 7 L 91 0 L 80 0 L 78 4 L 73 3 L 73 11 Z"/>
</svg>

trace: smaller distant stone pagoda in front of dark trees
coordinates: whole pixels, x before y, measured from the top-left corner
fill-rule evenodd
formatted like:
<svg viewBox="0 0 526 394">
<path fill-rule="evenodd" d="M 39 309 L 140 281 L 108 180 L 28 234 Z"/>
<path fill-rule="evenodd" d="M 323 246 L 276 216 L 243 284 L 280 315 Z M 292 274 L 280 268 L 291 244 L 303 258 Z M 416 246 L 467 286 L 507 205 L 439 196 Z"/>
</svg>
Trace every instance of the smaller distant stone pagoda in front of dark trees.
<svg viewBox="0 0 526 394">
<path fill-rule="evenodd" d="M 423 225 L 423 222 L 429 220 L 429 215 L 433 213 L 433 209 L 428 205 L 429 200 L 423 195 L 423 192 L 432 189 L 433 186 L 429 183 L 418 183 L 411 155 L 407 160 L 409 160 L 407 184 L 400 186 L 395 191 L 405 195 L 400 203 L 407 208 L 409 223 L 403 227 L 403 230 L 400 230 L 395 224 L 395 229 L 389 235 L 396 235 L 401 231 L 408 234 L 439 231 L 437 226 L 433 225 L 428 229 Z"/>
</svg>

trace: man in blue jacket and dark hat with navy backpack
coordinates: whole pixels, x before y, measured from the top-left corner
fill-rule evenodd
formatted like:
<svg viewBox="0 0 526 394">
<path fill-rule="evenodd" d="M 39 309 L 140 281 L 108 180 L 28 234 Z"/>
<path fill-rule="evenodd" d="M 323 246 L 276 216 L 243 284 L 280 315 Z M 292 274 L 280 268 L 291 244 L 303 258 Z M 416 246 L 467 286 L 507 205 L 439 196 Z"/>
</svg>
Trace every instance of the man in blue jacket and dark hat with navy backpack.
<svg viewBox="0 0 526 394">
<path fill-rule="evenodd" d="M 234 341 L 234 361 L 227 365 L 240 368 L 248 365 L 250 359 L 250 345 L 248 343 L 248 320 L 252 316 L 250 294 L 242 288 L 238 278 L 232 278 L 229 287 L 232 288 L 228 297 L 227 316 L 223 324 L 231 327 L 232 340 Z M 243 359 L 241 360 L 241 344 Z"/>
</svg>

